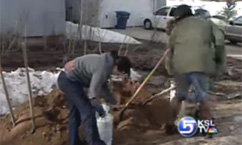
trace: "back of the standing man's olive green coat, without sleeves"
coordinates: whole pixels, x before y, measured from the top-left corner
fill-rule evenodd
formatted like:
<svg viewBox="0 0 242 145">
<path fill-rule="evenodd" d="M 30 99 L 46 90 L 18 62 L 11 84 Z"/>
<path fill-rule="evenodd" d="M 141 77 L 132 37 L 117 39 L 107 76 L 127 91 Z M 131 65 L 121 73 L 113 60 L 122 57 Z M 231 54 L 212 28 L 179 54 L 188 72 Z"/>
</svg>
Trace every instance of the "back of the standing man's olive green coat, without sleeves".
<svg viewBox="0 0 242 145">
<path fill-rule="evenodd" d="M 176 23 L 170 37 L 174 48 L 173 65 L 176 73 L 213 73 L 215 68 L 212 25 L 210 21 L 187 17 Z"/>
</svg>

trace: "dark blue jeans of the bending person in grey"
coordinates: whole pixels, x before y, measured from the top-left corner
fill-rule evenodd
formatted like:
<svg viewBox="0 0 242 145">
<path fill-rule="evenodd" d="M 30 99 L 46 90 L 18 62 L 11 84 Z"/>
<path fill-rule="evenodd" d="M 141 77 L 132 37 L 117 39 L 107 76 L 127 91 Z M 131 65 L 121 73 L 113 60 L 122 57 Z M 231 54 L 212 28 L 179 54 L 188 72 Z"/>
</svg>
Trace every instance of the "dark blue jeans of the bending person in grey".
<svg viewBox="0 0 242 145">
<path fill-rule="evenodd" d="M 58 77 L 58 86 L 71 104 L 69 120 L 70 145 L 81 145 L 78 135 L 78 127 L 81 123 L 89 145 L 105 145 L 99 137 L 95 110 L 86 97 L 81 82 L 70 81 L 66 73 L 61 72 Z"/>
</svg>

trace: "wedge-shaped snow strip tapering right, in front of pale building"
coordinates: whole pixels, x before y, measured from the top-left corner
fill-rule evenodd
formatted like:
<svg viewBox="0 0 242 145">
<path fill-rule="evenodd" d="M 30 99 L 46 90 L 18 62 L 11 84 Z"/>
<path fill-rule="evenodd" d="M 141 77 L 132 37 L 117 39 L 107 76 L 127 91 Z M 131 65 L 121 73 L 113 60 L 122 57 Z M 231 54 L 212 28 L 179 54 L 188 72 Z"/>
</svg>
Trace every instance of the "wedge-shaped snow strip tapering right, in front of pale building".
<svg viewBox="0 0 242 145">
<path fill-rule="evenodd" d="M 78 24 L 72 22 L 66 22 L 66 37 L 68 39 L 79 39 L 79 28 Z M 83 25 L 82 30 L 83 40 L 92 40 L 96 42 L 106 42 L 106 43 L 128 43 L 128 44 L 141 44 L 134 38 L 123 35 L 111 30 L 101 29 L 97 27 L 91 27 Z"/>
</svg>

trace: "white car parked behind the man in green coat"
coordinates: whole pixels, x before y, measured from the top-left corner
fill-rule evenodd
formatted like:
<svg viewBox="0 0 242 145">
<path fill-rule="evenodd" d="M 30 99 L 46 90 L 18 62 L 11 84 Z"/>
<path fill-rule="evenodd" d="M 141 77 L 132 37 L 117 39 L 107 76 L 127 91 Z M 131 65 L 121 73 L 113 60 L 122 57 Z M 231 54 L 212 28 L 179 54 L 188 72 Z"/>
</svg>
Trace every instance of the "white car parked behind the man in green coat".
<svg viewBox="0 0 242 145">
<path fill-rule="evenodd" d="M 166 24 L 169 20 L 174 18 L 174 12 L 178 6 L 165 6 L 158 9 L 153 15 L 150 15 L 149 18 L 145 18 L 144 20 L 144 28 L 145 29 L 165 29 Z M 191 7 L 192 11 L 195 15 L 201 17 L 210 17 L 210 13 L 207 10 L 202 9 L 199 6 Z"/>
</svg>

